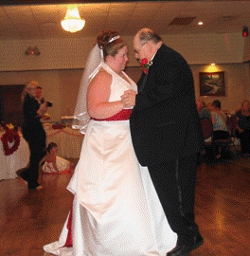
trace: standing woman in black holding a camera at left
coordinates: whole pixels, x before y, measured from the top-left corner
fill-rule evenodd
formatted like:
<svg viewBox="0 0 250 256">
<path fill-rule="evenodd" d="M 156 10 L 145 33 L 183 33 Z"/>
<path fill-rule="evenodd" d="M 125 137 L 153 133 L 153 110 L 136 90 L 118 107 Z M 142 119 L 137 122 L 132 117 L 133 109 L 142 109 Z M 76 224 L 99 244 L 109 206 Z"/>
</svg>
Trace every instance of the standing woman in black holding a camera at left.
<svg viewBox="0 0 250 256">
<path fill-rule="evenodd" d="M 46 135 L 42 122 L 46 111 L 46 102 L 39 104 L 37 97 L 37 82 L 27 82 L 22 94 L 24 123 L 22 127 L 23 137 L 27 140 L 30 158 L 29 165 L 21 174 L 29 190 L 42 190 L 38 183 L 39 162 L 45 156 Z"/>
</svg>

